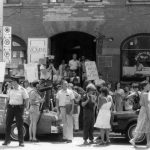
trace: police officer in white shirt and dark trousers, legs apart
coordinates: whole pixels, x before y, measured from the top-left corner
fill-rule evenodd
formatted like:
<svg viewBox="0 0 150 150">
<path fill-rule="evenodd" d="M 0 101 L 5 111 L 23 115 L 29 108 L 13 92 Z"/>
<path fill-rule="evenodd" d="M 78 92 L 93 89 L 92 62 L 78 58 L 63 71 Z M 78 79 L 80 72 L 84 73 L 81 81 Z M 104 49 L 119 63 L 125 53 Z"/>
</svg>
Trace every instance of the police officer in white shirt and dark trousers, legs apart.
<svg viewBox="0 0 150 150">
<path fill-rule="evenodd" d="M 18 84 L 19 83 L 18 78 L 12 77 L 11 81 L 13 88 L 8 93 L 8 100 L 6 105 L 7 113 L 6 113 L 5 141 L 3 145 L 10 144 L 11 125 L 15 117 L 18 128 L 19 146 L 23 147 L 24 102 L 27 102 L 29 96 L 25 91 L 25 89 Z"/>
</svg>

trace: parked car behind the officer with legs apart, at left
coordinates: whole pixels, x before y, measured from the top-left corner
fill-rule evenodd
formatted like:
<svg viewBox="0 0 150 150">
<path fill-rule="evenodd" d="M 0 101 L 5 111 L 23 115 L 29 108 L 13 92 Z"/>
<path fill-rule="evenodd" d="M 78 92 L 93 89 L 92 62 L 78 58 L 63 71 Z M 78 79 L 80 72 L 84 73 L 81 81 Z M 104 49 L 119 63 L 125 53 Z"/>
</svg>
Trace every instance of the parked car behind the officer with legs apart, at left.
<svg viewBox="0 0 150 150">
<path fill-rule="evenodd" d="M 5 133 L 5 121 L 6 114 L 4 112 L 5 104 L 6 104 L 6 95 L 0 94 L 0 133 Z M 23 132 L 24 137 L 27 140 L 29 136 L 29 112 L 24 112 L 24 125 Z M 40 115 L 40 119 L 37 125 L 37 135 L 41 134 L 62 134 L 62 122 L 61 119 L 58 118 L 57 113 L 54 111 L 43 111 Z M 11 138 L 13 140 L 18 139 L 18 130 L 16 126 L 16 122 L 14 120 L 11 126 Z"/>
</svg>

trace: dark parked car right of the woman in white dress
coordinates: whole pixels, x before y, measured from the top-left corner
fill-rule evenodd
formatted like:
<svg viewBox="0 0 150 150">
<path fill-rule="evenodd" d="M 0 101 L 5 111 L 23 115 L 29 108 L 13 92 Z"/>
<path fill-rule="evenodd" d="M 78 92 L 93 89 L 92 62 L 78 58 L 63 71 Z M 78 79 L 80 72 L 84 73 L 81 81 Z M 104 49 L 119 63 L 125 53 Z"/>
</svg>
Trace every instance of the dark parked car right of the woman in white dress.
<svg viewBox="0 0 150 150">
<path fill-rule="evenodd" d="M 120 111 L 113 113 L 112 132 L 121 133 L 130 140 L 134 135 L 134 130 L 137 124 L 138 111 Z M 137 143 L 145 141 L 145 134 L 142 134 Z"/>
</svg>

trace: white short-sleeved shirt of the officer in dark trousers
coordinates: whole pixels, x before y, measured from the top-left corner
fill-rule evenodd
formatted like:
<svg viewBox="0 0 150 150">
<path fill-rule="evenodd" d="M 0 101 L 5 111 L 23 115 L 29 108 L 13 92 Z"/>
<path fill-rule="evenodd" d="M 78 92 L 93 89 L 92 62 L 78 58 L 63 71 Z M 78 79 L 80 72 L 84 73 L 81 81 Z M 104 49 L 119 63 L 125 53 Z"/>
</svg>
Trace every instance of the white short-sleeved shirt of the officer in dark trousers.
<svg viewBox="0 0 150 150">
<path fill-rule="evenodd" d="M 18 89 L 11 89 L 8 93 L 10 105 L 23 105 L 23 100 L 28 99 L 29 95 L 27 91 L 21 86 Z"/>
</svg>

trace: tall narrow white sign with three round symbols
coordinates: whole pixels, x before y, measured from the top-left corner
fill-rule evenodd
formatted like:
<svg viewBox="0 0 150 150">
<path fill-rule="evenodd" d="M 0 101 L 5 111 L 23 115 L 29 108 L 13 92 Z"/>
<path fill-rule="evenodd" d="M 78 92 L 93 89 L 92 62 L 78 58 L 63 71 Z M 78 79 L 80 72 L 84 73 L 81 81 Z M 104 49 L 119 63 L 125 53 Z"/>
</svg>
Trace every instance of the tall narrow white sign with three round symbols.
<svg viewBox="0 0 150 150">
<path fill-rule="evenodd" d="M 11 27 L 3 27 L 3 61 L 11 63 Z"/>
</svg>

